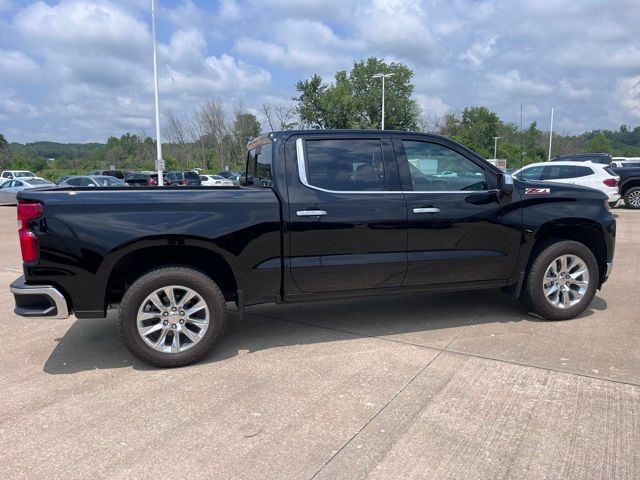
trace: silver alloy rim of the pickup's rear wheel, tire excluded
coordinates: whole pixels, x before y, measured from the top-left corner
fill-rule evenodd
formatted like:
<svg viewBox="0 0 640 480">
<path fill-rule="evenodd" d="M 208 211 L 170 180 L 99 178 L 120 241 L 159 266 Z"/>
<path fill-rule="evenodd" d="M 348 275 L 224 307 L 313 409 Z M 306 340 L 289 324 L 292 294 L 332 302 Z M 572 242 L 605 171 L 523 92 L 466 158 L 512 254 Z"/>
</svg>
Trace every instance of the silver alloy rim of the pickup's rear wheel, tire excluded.
<svg viewBox="0 0 640 480">
<path fill-rule="evenodd" d="M 195 290 L 169 285 L 147 295 L 136 317 L 138 334 L 151 348 L 180 353 L 197 345 L 209 328 L 207 302 Z"/>
</svg>

